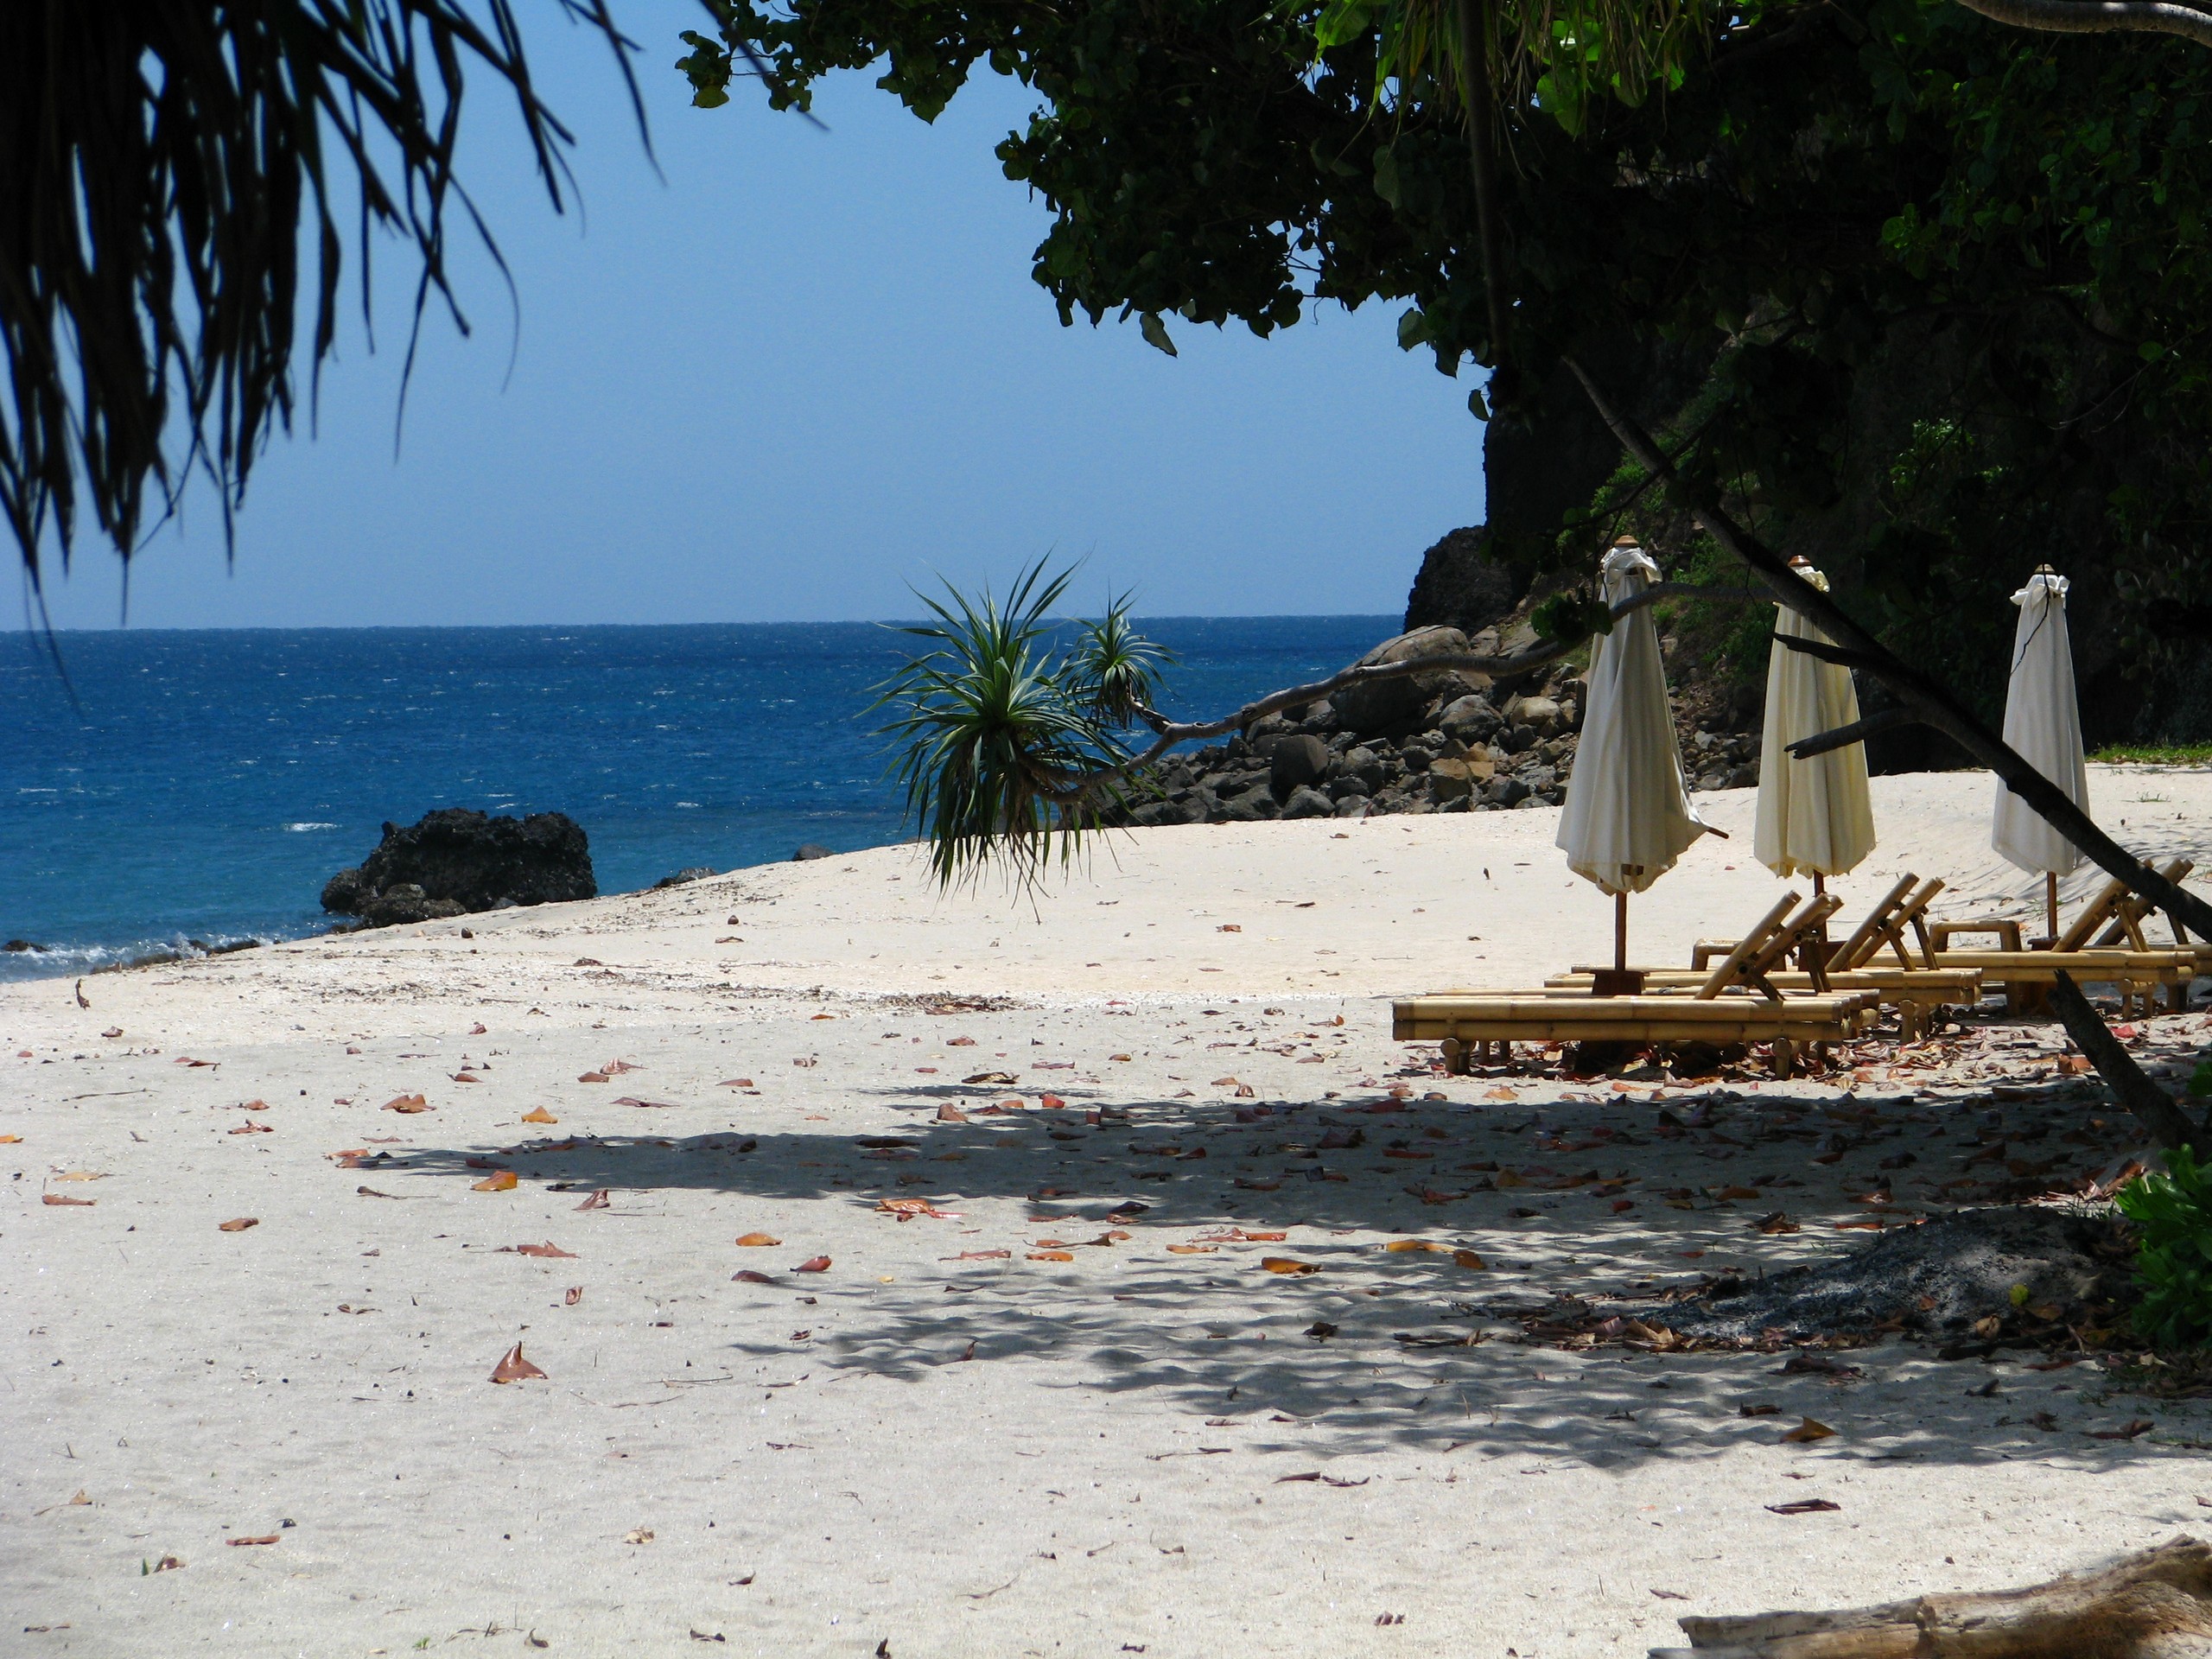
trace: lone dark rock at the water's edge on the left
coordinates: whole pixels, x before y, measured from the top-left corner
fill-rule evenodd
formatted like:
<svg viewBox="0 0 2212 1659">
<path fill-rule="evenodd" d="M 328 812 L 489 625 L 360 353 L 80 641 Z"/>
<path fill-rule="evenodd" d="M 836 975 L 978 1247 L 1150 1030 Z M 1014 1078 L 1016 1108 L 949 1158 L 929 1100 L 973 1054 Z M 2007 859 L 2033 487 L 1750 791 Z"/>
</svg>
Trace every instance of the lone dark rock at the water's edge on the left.
<svg viewBox="0 0 2212 1659">
<path fill-rule="evenodd" d="M 323 887 L 323 909 L 394 927 L 597 894 L 591 843 L 568 814 L 493 818 L 445 807 L 407 827 L 387 823 L 376 852 Z"/>
</svg>

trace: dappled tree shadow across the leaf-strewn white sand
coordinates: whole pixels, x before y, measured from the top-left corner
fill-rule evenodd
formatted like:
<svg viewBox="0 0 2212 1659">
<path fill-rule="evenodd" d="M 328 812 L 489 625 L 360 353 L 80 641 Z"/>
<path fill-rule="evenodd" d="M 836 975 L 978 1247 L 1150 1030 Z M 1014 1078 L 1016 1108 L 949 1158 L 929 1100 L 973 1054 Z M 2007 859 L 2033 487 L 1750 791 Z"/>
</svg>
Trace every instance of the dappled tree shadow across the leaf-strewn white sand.
<svg viewBox="0 0 2212 1659">
<path fill-rule="evenodd" d="M 909 1121 L 880 1135 L 650 1135 L 648 1124 L 681 1108 L 641 1108 L 635 1137 L 418 1150 L 387 1170 L 480 1179 L 491 1161 L 531 1186 L 611 1188 L 617 1201 L 692 1188 L 858 1212 L 885 1199 L 958 1208 L 960 1221 L 854 1217 L 896 1228 L 902 1250 L 927 1239 L 920 1274 L 909 1265 L 894 1283 L 836 1272 L 796 1281 L 779 1261 L 776 1283 L 732 1285 L 732 1296 L 816 1298 L 803 1349 L 741 1336 L 732 1363 L 803 1352 L 814 1367 L 916 1383 L 945 1367 L 1024 1363 L 1044 1391 L 1141 1394 L 1188 1413 L 1190 1444 L 1161 1455 L 1206 1458 L 1234 1444 L 1294 1453 L 1329 1473 L 1332 1458 L 1385 1449 L 1628 1467 L 1763 1444 L 1790 1460 L 1776 1469 L 1785 1502 L 1794 1495 L 1785 1473 L 1834 1460 L 2039 1458 L 2115 1469 L 2197 1438 L 2185 1409 L 2106 1400 L 2095 1363 L 2037 1371 L 2033 1352 L 1940 1363 L 1933 1345 L 1887 1340 L 1829 1354 L 1843 1369 L 1820 1374 L 1783 1371 L 1787 1349 L 1683 1356 L 1511 1340 L 1515 1314 L 1559 1292 L 1641 1301 L 1712 1270 L 1759 1274 L 1849 1248 L 1865 1234 L 1834 1228 L 1867 1210 L 1847 1194 L 1902 1152 L 1947 1175 L 1986 1099 L 1951 1102 L 1911 1124 L 1865 1119 L 1858 1104 L 1856 1130 L 1818 1121 L 1843 1155 L 1816 1166 L 1805 1159 L 1812 1135 L 1783 1102 L 1734 1099 L 1710 1110 L 1705 1128 L 1674 1130 L 1652 1106 L 1621 1102 L 1363 1110 L 1155 1099 L 1086 1124 L 1093 1102 L 1075 1088 L 1066 1110 L 989 1117 L 975 1115 L 989 1099 L 980 1091 L 898 1097 Z M 940 1099 L 960 1099 L 971 1121 L 938 1121 Z M 2053 1128 L 2088 1108 L 2062 1091 L 2013 1088 L 2002 1110 L 2042 1150 Z M 2084 1168 L 2104 1155 L 2051 1150 Z M 1498 1166 L 1522 1172 L 1524 1186 L 1498 1188 Z M 1551 1190 L 1579 1177 L 1590 1179 Z M 1920 1179 L 1933 1190 L 1933 1177 Z M 1761 1190 L 1714 1197 L 1728 1183 Z M 1659 1197 L 1686 1190 L 1690 1208 Z M 1896 1210 L 1927 1212 L 1913 1197 L 1898 1179 Z M 1752 1223 L 1774 1208 L 1794 1212 L 1801 1232 L 1761 1234 Z M 1287 1239 L 1208 1237 L 1232 1228 Z M 1391 1239 L 1467 1248 L 1484 1265 L 1451 1250 L 1394 1252 Z M 1270 1272 L 1265 1256 L 1314 1272 Z M 2137 1413 L 2159 1427 L 2093 1438 Z M 1838 1433 L 1778 1447 L 1801 1418 Z"/>
</svg>

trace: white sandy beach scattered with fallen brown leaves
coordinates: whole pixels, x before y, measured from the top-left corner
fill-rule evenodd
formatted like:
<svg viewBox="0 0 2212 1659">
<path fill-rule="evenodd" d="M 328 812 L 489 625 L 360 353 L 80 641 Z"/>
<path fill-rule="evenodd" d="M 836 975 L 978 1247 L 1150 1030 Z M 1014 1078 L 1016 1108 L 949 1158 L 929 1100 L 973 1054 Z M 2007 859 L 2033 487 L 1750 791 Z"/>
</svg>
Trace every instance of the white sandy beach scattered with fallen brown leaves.
<svg viewBox="0 0 2212 1659">
<path fill-rule="evenodd" d="M 2212 852 L 2212 774 L 2090 792 Z M 1697 801 L 1730 838 L 1635 900 L 1635 960 L 1778 896 L 1752 792 Z M 2039 902 L 1986 774 L 1874 805 L 1845 918 L 1905 869 L 1944 916 Z M 0 987 L 0 1652 L 1568 1659 L 2197 1528 L 2212 1413 L 2093 1365 L 1511 1340 L 1486 1305 L 1840 1250 L 1882 1159 L 1927 1210 L 1989 1113 L 2132 1144 L 2017 1086 L 2053 1024 L 1719 1091 L 1436 1075 L 1391 995 L 1610 949 L 1555 827 L 1146 830 L 1033 898 L 889 847 Z M 1626 1201 L 1540 1186 L 1582 1170 Z M 493 1385 L 518 1343 L 544 1378 Z"/>
</svg>

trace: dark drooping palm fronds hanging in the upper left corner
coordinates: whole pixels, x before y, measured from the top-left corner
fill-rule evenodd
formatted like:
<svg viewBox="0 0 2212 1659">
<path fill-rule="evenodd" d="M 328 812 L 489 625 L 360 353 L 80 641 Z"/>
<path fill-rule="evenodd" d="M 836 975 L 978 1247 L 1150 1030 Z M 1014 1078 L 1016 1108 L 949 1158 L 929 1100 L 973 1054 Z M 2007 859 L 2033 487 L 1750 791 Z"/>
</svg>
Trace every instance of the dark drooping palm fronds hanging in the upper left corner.
<svg viewBox="0 0 2212 1659">
<path fill-rule="evenodd" d="M 557 9 L 608 40 L 644 122 L 608 0 Z M 66 568 L 88 509 L 128 560 L 195 467 L 228 529 L 261 447 L 292 425 L 303 285 L 316 372 L 336 343 L 347 177 L 363 310 L 369 234 L 392 232 L 420 261 L 414 327 L 438 296 L 467 332 L 447 208 L 491 246 L 453 173 L 469 66 L 513 95 L 560 210 L 571 135 L 531 80 L 513 0 L 0 7 L 0 515 L 33 588 L 49 533 Z"/>
</svg>

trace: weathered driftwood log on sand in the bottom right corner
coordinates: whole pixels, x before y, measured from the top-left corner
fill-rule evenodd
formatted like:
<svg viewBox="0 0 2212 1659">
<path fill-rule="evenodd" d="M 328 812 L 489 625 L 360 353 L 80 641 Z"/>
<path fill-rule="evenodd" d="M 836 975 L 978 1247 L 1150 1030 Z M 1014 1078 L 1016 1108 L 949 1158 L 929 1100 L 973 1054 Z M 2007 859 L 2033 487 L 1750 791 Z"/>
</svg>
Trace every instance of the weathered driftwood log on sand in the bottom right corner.
<svg viewBox="0 0 2212 1659">
<path fill-rule="evenodd" d="M 2212 1548 L 2177 1537 L 2095 1573 L 1847 1613 L 1683 1619 L 1652 1659 L 2208 1659 Z"/>
</svg>

